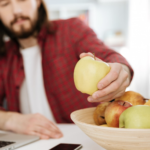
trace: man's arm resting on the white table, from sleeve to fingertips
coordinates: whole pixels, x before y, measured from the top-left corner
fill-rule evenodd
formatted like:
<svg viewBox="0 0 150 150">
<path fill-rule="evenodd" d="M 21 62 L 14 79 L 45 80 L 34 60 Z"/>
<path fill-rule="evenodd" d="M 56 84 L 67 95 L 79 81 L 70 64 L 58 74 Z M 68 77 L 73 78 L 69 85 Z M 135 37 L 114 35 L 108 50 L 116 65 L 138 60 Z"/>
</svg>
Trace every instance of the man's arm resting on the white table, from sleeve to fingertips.
<svg viewBox="0 0 150 150">
<path fill-rule="evenodd" d="M 41 139 L 62 137 L 58 127 L 40 114 L 24 115 L 4 110 L 2 107 L 5 97 L 3 64 L 5 63 L 0 61 L 0 130 L 36 135 Z"/>
</svg>

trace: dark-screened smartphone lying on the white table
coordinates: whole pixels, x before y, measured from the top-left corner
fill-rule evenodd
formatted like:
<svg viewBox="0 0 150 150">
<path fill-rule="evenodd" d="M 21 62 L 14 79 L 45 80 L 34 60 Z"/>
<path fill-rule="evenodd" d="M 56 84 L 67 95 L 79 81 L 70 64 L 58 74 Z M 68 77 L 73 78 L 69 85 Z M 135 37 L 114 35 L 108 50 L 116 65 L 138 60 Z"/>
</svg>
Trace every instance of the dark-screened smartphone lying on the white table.
<svg viewBox="0 0 150 150">
<path fill-rule="evenodd" d="M 58 144 L 49 150 L 80 150 L 81 148 L 82 148 L 81 144 L 61 143 L 61 144 Z"/>
</svg>

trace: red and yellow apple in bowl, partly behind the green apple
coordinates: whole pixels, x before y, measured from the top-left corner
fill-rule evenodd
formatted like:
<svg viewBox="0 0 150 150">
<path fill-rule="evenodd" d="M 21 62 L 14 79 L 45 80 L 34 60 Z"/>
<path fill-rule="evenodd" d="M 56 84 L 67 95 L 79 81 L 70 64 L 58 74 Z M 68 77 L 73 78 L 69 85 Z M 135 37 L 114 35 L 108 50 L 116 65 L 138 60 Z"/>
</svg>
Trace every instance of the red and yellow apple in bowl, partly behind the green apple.
<svg viewBox="0 0 150 150">
<path fill-rule="evenodd" d="M 119 117 L 124 110 L 131 107 L 132 104 L 126 101 L 118 100 L 110 103 L 105 110 L 105 120 L 109 127 L 119 128 Z"/>
</svg>

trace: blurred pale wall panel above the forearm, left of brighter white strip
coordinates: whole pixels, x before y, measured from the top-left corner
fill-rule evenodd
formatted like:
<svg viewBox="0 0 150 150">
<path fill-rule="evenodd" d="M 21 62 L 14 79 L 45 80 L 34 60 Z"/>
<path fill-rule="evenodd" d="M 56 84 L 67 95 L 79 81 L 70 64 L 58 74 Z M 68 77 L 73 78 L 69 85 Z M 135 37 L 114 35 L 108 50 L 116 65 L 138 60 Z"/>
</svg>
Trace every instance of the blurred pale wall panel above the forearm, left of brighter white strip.
<svg viewBox="0 0 150 150">
<path fill-rule="evenodd" d="M 101 3 L 97 8 L 96 32 L 100 39 L 109 30 L 121 30 L 127 36 L 128 2 Z"/>
</svg>

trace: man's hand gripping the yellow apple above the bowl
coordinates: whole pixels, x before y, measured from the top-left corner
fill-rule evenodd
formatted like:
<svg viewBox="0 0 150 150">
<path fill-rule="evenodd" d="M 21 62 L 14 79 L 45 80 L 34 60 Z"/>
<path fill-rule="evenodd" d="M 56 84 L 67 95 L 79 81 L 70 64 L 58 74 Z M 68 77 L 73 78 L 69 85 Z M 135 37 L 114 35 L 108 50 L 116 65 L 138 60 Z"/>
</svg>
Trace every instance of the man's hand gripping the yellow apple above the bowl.
<svg viewBox="0 0 150 150">
<path fill-rule="evenodd" d="M 92 56 L 92 53 L 82 53 L 80 58 Z M 99 58 L 96 60 L 101 61 Z M 110 72 L 98 83 L 98 91 L 88 97 L 89 102 L 111 101 L 124 94 L 130 84 L 131 73 L 127 66 L 119 63 L 108 63 Z"/>
</svg>

